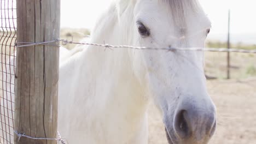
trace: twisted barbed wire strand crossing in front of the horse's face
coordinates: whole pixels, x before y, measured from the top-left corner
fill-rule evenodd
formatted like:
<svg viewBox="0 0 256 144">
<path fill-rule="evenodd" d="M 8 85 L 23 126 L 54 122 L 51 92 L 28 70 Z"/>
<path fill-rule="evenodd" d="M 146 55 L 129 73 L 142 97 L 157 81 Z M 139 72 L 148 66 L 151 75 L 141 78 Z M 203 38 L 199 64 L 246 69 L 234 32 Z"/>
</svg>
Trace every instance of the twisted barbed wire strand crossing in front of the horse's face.
<svg viewBox="0 0 256 144">
<path fill-rule="evenodd" d="M 100 46 L 108 49 L 117 49 L 117 48 L 127 48 L 127 49 L 135 49 L 135 50 L 165 50 L 165 51 L 211 51 L 211 52 L 239 52 L 239 53 L 256 53 L 256 49 L 245 50 L 245 49 L 227 49 L 227 48 L 206 48 L 206 47 L 164 47 L 164 48 L 156 48 L 156 47 L 145 47 L 145 46 L 130 46 L 130 45 L 110 45 L 110 44 L 95 44 L 95 43 L 80 43 L 72 40 L 66 39 L 57 39 L 51 41 L 44 41 L 40 43 L 16 43 L 16 47 L 28 47 L 28 46 L 36 46 L 36 45 L 50 45 L 50 46 L 60 46 L 60 45 L 51 45 L 52 43 L 61 42 L 62 45 L 67 44 L 77 44 L 77 45 L 92 45 L 92 46 Z"/>
</svg>

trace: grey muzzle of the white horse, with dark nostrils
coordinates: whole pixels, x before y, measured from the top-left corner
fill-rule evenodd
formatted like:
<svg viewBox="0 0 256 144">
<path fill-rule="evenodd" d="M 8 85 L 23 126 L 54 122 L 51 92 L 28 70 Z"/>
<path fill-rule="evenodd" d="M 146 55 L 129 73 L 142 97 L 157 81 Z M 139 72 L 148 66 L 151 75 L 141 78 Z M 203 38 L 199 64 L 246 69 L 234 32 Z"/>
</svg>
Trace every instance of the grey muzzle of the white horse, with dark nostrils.
<svg viewBox="0 0 256 144">
<path fill-rule="evenodd" d="M 178 105 L 174 118 L 165 116 L 169 144 L 206 144 L 216 129 L 215 106 Z"/>
</svg>

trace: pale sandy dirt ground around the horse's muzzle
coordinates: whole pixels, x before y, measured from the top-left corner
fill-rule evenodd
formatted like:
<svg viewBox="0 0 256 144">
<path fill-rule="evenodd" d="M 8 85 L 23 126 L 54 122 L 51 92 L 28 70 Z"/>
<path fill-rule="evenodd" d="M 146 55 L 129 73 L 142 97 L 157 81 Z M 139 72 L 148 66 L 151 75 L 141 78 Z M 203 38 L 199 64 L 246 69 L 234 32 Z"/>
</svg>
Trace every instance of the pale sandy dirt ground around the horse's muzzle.
<svg viewBox="0 0 256 144">
<path fill-rule="evenodd" d="M 207 82 L 217 107 L 218 125 L 210 144 L 256 143 L 256 77 Z M 161 117 L 154 105 L 149 113 L 149 143 L 167 143 Z"/>
</svg>

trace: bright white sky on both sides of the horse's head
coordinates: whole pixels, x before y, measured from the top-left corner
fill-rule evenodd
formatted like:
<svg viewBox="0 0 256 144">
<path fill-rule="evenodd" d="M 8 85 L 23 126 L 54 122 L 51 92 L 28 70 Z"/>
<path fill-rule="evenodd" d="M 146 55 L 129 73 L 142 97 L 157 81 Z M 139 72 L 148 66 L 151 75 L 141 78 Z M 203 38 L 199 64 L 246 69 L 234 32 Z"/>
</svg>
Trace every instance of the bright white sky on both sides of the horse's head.
<svg viewBox="0 0 256 144">
<path fill-rule="evenodd" d="M 61 0 L 61 27 L 91 29 L 111 0 Z M 256 33 L 255 0 L 199 0 L 212 21 L 211 33 L 226 33 L 228 10 L 232 33 Z"/>
</svg>

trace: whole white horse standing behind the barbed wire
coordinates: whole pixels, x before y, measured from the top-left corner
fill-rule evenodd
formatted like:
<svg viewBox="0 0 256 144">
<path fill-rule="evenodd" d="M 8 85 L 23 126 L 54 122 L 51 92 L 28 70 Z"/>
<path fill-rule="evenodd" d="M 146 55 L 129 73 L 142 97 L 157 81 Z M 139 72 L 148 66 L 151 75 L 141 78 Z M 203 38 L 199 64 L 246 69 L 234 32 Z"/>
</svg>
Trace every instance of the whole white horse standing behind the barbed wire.
<svg viewBox="0 0 256 144">
<path fill-rule="evenodd" d="M 211 22 L 197 0 L 114 1 L 91 43 L 203 47 Z M 148 143 L 150 99 L 169 143 L 207 143 L 216 108 L 203 52 L 89 46 L 60 65 L 59 130 L 69 143 Z"/>
</svg>

